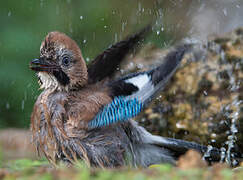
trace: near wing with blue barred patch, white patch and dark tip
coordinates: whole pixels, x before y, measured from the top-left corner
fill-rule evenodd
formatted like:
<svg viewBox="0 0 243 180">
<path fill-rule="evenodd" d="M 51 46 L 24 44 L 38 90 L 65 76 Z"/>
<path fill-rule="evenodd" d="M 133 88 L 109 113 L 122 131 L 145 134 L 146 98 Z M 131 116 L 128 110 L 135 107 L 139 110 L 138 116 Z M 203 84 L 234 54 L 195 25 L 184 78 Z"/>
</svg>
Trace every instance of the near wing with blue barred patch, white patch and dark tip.
<svg viewBox="0 0 243 180">
<path fill-rule="evenodd" d="M 165 86 L 188 49 L 190 49 L 190 45 L 178 46 L 165 57 L 160 66 L 109 83 L 108 87 L 113 100 L 89 122 L 89 127 L 107 126 L 137 116 L 156 93 Z"/>
</svg>

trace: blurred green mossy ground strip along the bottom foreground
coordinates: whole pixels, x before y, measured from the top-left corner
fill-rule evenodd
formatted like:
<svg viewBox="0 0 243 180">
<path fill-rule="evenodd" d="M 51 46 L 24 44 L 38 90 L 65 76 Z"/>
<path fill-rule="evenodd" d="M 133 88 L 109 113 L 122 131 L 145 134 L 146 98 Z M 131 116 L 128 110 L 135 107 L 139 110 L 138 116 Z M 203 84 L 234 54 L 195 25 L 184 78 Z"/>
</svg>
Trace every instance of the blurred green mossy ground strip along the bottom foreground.
<svg viewBox="0 0 243 180">
<path fill-rule="evenodd" d="M 13 161 L 5 169 L 4 180 L 12 179 L 68 179 L 68 180 L 156 180 L 156 179 L 240 179 L 243 170 L 233 171 L 230 168 L 191 168 L 182 170 L 168 164 L 153 165 L 147 169 L 90 169 L 84 163 L 77 163 L 74 167 L 60 166 L 57 169 L 46 167 L 46 161 L 32 161 L 22 159 Z M 20 168 L 21 167 L 21 168 Z M 1 169 L 0 169 L 1 177 Z"/>
</svg>

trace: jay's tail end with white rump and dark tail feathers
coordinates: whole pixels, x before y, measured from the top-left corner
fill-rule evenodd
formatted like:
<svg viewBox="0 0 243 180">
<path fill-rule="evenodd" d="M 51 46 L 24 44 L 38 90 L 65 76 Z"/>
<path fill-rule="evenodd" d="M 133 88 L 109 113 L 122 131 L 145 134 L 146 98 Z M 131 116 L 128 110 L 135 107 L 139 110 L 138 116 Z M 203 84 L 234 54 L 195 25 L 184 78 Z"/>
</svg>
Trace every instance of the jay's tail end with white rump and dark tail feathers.
<svg viewBox="0 0 243 180">
<path fill-rule="evenodd" d="M 135 162 L 141 166 L 149 166 L 159 163 L 175 164 L 176 160 L 188 150 L 196 150 L 210 164 L 222 160 L 221 150 L 204 146 L 194 142 L 179 139 L 165 138 L 150 134 L 136 122 L 133 125 L 132 139 L 134 145 Z"/>
</svg>

